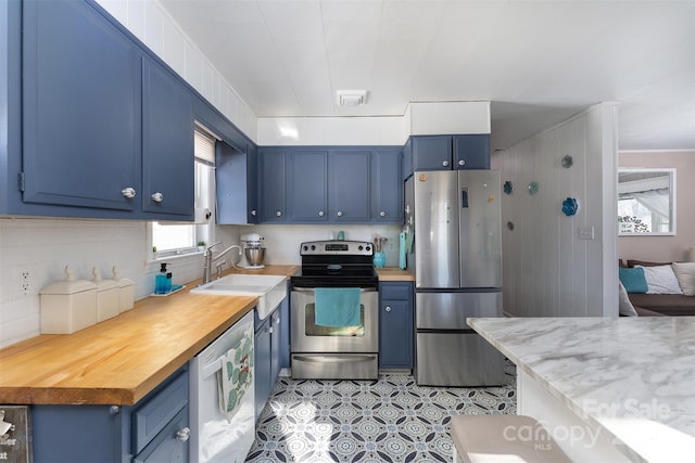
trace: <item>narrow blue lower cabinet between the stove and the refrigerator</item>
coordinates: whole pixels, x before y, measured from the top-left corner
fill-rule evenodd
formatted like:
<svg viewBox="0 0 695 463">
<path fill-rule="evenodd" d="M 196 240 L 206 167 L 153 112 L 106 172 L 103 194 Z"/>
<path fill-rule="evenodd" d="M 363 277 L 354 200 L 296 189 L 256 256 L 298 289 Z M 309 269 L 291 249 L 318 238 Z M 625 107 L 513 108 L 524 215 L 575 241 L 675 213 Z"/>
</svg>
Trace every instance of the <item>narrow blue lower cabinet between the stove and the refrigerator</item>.
<svg viewBox="0 0 695 463">
<path fill-rule="evenodd" d="M 413 369 L 413 283 L 379 283 L 379 368 Z"/>
</svg>

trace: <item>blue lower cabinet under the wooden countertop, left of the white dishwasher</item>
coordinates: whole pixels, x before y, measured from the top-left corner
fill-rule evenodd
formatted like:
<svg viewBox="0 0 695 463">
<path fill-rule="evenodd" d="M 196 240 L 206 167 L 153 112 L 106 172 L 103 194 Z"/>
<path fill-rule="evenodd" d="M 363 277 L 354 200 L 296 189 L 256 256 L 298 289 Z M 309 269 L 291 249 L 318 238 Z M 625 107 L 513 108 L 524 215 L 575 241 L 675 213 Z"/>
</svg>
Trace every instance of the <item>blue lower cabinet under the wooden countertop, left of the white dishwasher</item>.
<svg viewBox="0 0 695 463">
<path fill-rule="evenodd" d="M 188 366 L 135 406 L 31 407 L 34 461 L 188 462 Z"/>
</svg>

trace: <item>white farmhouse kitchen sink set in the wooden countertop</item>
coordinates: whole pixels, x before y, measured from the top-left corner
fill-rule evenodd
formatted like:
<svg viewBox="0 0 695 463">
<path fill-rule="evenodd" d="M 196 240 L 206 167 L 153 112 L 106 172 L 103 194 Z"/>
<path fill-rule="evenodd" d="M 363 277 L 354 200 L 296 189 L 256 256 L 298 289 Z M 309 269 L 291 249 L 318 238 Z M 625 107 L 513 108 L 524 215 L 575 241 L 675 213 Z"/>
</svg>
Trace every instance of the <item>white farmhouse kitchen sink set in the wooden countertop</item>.
<svg viewBox="0 0 695 463">
<path fill-rule="evenodd" d="M 287 297 L 287 276 L 230 274 L 191 290 L 193 294 L 257 296 L 256 312 L 265 320 Z"/>
</svg>

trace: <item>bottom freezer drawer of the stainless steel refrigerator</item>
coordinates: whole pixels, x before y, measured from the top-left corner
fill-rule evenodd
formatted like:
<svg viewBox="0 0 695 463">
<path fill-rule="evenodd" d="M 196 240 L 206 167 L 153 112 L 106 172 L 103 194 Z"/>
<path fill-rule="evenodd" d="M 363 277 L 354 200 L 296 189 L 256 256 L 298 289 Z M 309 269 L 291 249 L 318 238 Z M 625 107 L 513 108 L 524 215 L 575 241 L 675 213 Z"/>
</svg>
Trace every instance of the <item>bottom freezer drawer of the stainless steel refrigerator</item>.
<svg viewBox="0 0 695 463">
<path fill-rule="evenodd" d="M 420 386 L 506 384 L 504 357 L 476 333 L 418 333 L 415 381 Z"/>
</svg>

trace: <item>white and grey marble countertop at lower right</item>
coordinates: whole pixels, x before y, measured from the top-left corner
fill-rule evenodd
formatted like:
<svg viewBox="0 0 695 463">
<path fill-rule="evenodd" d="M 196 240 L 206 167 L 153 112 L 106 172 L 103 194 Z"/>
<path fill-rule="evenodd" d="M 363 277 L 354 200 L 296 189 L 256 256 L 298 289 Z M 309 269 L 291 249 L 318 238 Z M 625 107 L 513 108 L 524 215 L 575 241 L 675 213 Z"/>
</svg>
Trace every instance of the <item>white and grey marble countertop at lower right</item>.
<svg viewBox="0 0 695 463">
<path fill-rule="evenodd" d="M 695 453 L 695 317 L 468 324 L 632 460 Z"/>
</svg>

